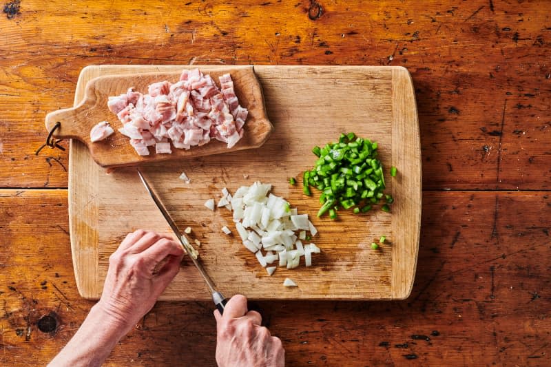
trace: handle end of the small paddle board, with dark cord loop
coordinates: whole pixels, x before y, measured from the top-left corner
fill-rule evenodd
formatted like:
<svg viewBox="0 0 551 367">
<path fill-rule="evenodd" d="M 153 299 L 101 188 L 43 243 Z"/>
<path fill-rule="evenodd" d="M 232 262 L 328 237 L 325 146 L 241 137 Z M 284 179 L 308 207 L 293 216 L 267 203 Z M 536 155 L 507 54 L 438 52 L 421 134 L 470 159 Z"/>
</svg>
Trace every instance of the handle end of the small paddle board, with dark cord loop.
<svg viewBox="0 0 551 367">
<path fill-rule="evenodd" d="M 45 125 L 48 132 L 52 131 L 57 122 L 61 123 L 59 128 L 56 129 L 52 135 L 56 139 L 77 139 L 83 143 L 87 141 L 83 137 L 90 136 L 83 134 L 82 125 L 78 123 L 79 120 L 85 117 L 87 112 L 93 107 L 94 102 L 90 98 L 85 98 L 79 105 L 71 108 L 58 109 L 57 111 L 50 112 L 46 115 Z M 100 121 L 98 121 L 99 123 Z"/>
</svg>

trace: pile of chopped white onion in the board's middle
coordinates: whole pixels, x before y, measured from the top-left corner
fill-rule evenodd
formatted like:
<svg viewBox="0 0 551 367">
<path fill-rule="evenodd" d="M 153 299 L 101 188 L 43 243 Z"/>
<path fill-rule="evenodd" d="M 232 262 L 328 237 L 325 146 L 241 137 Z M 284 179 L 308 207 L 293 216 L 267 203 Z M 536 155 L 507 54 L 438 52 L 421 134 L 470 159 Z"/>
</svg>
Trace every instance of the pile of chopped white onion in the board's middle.
<svg viewBox="0 0 551 367">
<path fill-rule="evenodd" d="M 315 244 L 303 245 L 306 231 L 312 236 L 318 233 L 308 214 L 298 214 L 289 202 L 269 193 L 270 184 L 254 182 L 250 187 L 242 186 L 231 196 L 226 188 L 218 207 L 233 210 L 233 221 L 245 247 L 256 255 L 269 275 L 279 266 L 294 269 L 304 256 L 304 265 L 312 265 L 312 253 L 320 253 Z M 262 253 L 265 251 L 265 253 Z"/>
</svg>

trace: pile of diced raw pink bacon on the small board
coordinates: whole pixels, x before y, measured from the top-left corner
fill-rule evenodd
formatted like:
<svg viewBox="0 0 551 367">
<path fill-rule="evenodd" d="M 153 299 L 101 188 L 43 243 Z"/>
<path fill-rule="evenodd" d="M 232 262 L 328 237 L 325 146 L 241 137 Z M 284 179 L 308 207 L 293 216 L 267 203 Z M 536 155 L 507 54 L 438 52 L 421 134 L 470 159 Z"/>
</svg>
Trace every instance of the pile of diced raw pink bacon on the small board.
<svg viewBox="0 0 551 367">
<path fill-rule="evenodd" d="M 220 87 L 199 69 L 184 70 L 180 81 L 149 85 L 148 94 L 134 92 L 109 97 L 107 105 L 123 123 L 119 132 L 130 138 L 140 156 L 171 153 L 171 145 L 189 149 L 211 139 L 231 148 L 243 136 L 249 113 L 239 105 L 229 74 L 220 76 Z"/>
</svg>

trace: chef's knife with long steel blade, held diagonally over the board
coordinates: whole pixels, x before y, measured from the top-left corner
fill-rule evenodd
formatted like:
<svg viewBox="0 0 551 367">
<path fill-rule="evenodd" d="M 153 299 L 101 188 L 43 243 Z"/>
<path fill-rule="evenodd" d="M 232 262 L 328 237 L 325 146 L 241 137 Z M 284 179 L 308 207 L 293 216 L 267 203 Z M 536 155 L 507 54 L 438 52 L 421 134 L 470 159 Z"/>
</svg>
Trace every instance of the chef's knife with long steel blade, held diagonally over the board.
<svg viewBox="0 0 551 367">
<path fill-rule="evenodd" d="M 216 289 L 216 286 L 214 285 L 214 282 L 211 280 L 211 277 L 209 277 L 209 274 L 207 274 L 207 271 L 205 271 L 205 268 L 202 267 L 202 264 L 194 258 L 194 255 L 192 253 L 194 252 L 194 249 L 191 247 L 191 244 L 189 244 L 189 240 L 187 239 L 187 236 L 183 233 L 180 233 L 178 230 L 178 227 L 176 227 L 176 223 L 174 223 L 174 220 L 170 217 L 167 209 L 165 208 L 165 205 L 163 205 L 163 202 L 160 201 L 160 199 L 156 196 L 156 194 L 153 192 L 151 187 L 149 187 L 149 184 L 143 177 L 142 173 L 139 169 L 137 169 L 138 175 L 140 176 L 140 179 L 143 182 L 143 185 L 145 186 L 145 189 L 147 189 L 147 192 L 152 197 L 153 201 L 155 202 L 155 205 L 160 210 L 160 213 L 163 214 L 163 217 L 165 217 L 165 220 L 167 220 L 168 225 L 174 231 L 174 234 L 176 234 L 176 237 L 180 240 L 180 243 L 184 247 L 185 251 L 187 251 L 187 254 L 189 255 L 189 258 L 191 259 L 191 262 L 194 263 L 199 273 L 202 275 L 205 282 L 207 282 L 207 285 L 209 286 L 209 289 L 212 294 L 212 300 L 214 301 L 214 304 L 216 305 L 216 308 L 218 308 L 218 311 L 220 311 L 220 314 L 224 313 L 224 308 L 226 306 L 227 300 L 222 295 L 222 293 L 218 292 Z"/>
</svg>

